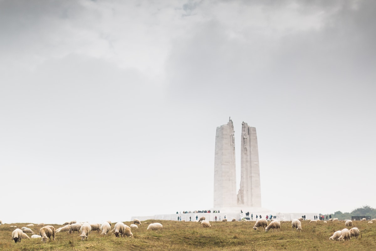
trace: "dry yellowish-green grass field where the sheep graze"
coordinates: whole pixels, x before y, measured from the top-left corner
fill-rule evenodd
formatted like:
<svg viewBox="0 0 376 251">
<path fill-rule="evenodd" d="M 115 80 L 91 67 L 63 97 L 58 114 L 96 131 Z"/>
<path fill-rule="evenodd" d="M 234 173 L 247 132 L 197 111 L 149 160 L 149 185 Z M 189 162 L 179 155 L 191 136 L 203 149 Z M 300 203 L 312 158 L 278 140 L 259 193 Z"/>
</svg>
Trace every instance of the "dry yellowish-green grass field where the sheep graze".
<svg viewBox="0 0 376 251">
<path fill-rule="evenodd" d="M 146 230 L 153 222 L 163 224 L 158 231 Z M 124 222 L 130 225 L 131 222 Z M 281 222 L 279 232 L 253 230 L 252 222 L 211 222 L 210 228 L 201 227 L 198 222 L 143 221 L 138 229 L 133 230 L 134 238 L 116 238 L 114 234 L 100 236 L 91 232 L 88 240 L 82 241 L 80 234 L 57 233 L 56 240 L 42 243 L 41 239 L 23 239 L 20 243 L 11 240 L 16 225 L 25 227 L 28 223 L 0 225 L 0 250 L 4 251 L 39 251 L 39 250 L 74 250 L 74 251 L 117 251 L 117 250 L 216 250 L 216 251 L 370 251 L 376 250 L 376 223 L 355 221 L 361 233 L 358 239 L 333 241 L 329 237 L 334 231 L 345 228 L 344 221 L 338 222 L 302 222 L 302 232 L 291 228 L 291 222 Z M 62 225 L 54 225 L 56 229 Z M 115 223 L 112 223 L 112 228 Z M 36 234 L 39 227 L 29 227 Z M 350 227 L 347 227 L 350 228 Z M 31 236 L 31 234 L 28 234 Z"/>
</svg>

